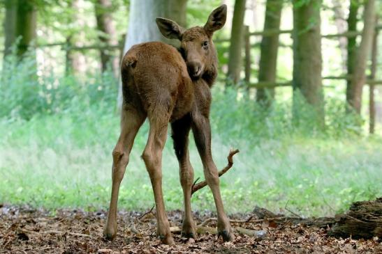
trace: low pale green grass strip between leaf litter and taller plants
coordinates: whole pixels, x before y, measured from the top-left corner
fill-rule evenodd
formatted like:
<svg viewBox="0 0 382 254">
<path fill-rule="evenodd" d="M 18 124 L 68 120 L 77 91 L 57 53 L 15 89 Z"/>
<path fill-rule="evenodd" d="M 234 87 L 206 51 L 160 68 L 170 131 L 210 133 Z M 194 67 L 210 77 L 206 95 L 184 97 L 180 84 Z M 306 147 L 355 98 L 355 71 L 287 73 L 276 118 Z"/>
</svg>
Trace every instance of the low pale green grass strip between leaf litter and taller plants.
<svg viewBox="0 0 382 254">
<path fill-rule="evenodd" d="M 111 151 L 118 132 L 119 118 L 115 114 L 92 109 L 35 116 L 28 121 L 2 120 L 0 202 L 48 209 L 106 208 Z M 284 212 L 289 200 L 288 207 L 299 214 L 323 216 L 346 209 L 354 200 L 382 194 L 380 138 L 307 138 L 291 134 L 252 141 L 249 132 L 242 132 L 228 138 L 218 128 L 213 130 L 212 148 L 218 168 L 226 165 L 230 145 L 241 150 L 233 168 L 221 177 L 228 212 L 249 212 L 255 205 Z M 119 194 L 120 209 L 147 209 L 154 202 L 140 159 L 146 139 L 147 123 L 135 139 Z M 203 179 L 193 142 L 191 161 L 196 177 Z M 182 209 L 178 164 L 170 137 L 163 153 L 163 189 L 167 209 Z M 198 191 L 192 202 L 193 209 L 214 209 L 207 188 Z"/>
</svg>

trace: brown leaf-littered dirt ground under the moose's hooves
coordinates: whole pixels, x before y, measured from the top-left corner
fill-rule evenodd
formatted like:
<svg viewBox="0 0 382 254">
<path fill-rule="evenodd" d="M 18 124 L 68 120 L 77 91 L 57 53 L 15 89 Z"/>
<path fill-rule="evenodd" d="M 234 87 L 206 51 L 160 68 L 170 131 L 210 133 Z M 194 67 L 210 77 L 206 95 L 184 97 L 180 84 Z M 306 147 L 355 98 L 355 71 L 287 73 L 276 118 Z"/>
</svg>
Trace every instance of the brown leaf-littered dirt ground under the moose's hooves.
<svg viewBox="0 0 382 254">
<path fill-rule="evenodd" d="M 235 233 L 235 241 L 223 243 L 205 232 L 196 241 L 174 235 L 176 245 L 162 245 L 155 237 L 155 216 L 149 212 L 120 212 L 115 241 L 102 237 L 105 211 L 83 212 L 0 205 L 0 253 L 382 253 L 381 239 L 354 240 L 328 237 L 328 228 L 314 228 L 272 221 L 232 223 L 233 227 L 265 230 L 264 237 Z M 180 226 L 182 212 L 169 212 L 172 226 Z M 194 214 L 196 223 L 214 214 Z M 247 220 L 251 214 L 230 216 Z M 216 222 L 208 224 L 214 228 Z"/>
</svg>

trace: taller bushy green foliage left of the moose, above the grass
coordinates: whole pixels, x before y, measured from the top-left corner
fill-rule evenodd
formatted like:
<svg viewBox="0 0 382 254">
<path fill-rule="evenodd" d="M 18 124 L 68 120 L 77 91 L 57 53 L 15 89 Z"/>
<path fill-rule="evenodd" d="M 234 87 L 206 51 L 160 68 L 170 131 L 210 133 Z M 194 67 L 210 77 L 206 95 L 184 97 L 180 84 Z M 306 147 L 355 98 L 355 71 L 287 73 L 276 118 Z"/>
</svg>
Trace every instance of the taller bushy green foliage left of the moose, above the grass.
<svg viewBox="0 0 382 254">
<path fill-rule="evenodd" d="M 117 81 L 111 72 L 95 74 L 85 83 L 72 75 L 38 77 L 34 56 L 29 52 L 19 63 L 13 54 L 4 62 L 0 78 L 0 118 L 29 120 L 41 114 L 81 111 L 94 105 L 98 108 L 110 105 L 107 110 L 112 111 Z"/>
</svg>

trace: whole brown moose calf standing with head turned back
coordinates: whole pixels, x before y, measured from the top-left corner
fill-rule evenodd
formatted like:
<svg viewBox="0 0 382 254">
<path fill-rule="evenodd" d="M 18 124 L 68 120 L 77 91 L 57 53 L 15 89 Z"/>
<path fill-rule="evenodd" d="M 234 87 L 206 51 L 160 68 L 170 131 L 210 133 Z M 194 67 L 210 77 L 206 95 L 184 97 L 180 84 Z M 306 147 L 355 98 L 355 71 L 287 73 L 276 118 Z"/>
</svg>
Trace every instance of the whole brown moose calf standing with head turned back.
<svg viewBox="0 0 382 254">
<path fill-rule="evenodd" d="M 184 193 L 182 236 L 196 236 L 191 215 L 193 168 L 188 150 L 192 129 L 203 162 L 205 180 L 214 196 L 218 235 L 225 241 L 233 240 L 221 200 L 218 171 L 212 160 L 209 119 L 210 88 L 217 74 L 212 35 L 225 24 L 226 12 L 226 5 L 220 6 L 210 14 L 205 26 L 185 31 L 169 19 L 157 18 L 156 24 L 166 38 L 180 40 L 181 53 L 162 42 L 147 42 L 131 47 L 124 56 L 121 70 L 124 95 L 121 134 L 112 152 L 112 196 L 104 230 L 106 238 L 113 239 L 117 233 L 119 184 L 124 177 L 135 135 L 148 118 L 149 138 L 142 159 L 154 191 L 158 237 L 164 244 L 174 244 L 163 202 L 161 168 L 162 150 L 170 122 Z"/>
</svg>

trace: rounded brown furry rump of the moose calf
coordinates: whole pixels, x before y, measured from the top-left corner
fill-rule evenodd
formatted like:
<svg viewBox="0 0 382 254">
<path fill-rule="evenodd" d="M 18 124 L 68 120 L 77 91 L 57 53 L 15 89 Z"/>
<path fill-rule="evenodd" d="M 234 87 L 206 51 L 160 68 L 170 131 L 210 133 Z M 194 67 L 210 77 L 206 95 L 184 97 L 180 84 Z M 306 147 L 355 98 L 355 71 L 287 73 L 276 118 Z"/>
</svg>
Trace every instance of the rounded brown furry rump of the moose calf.
<svg viewBox="0 0 382 254">
<path fill-rule="evenodd" d="M 169 115 L 170 122 L 191 111 L 193 84 L 175 47 L 163 42 L 134 45 L 122 59 L 121 73 L 124 108 Z"/>
</svg>

